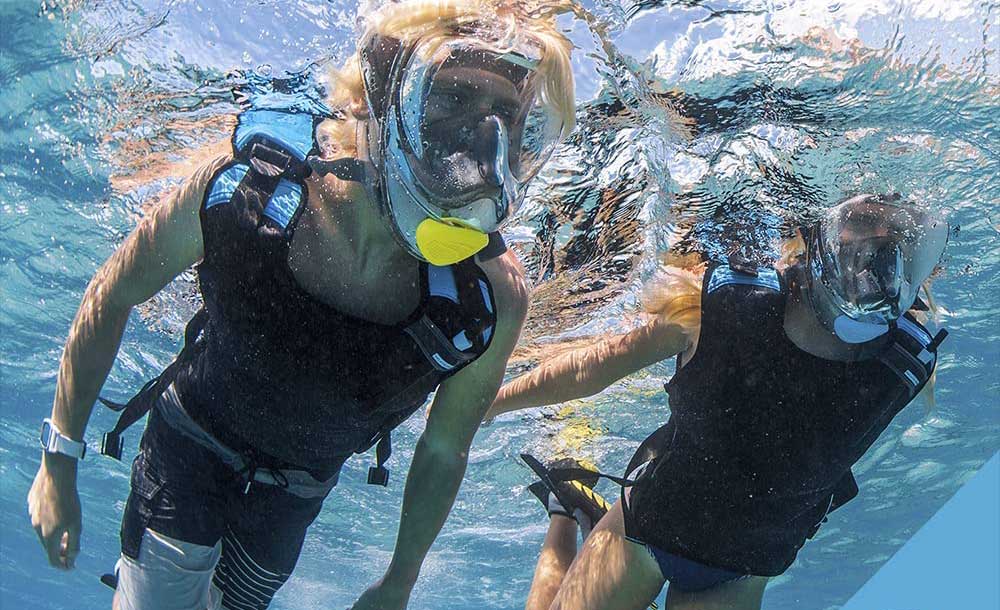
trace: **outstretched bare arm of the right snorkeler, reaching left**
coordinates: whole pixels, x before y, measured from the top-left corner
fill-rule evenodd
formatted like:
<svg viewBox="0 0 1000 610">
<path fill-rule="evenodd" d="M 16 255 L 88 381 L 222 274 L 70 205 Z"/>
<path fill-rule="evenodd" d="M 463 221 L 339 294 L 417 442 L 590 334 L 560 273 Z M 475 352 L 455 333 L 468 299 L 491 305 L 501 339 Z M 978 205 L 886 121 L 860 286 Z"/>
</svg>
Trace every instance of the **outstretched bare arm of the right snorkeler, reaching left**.
<svg viewBox="0 0 1000 610">
<path fill-rule="evenodd" d="M 656 318 L 628 334 L 557 356 L 511 381 L 500 389 L 486 417 L 592 396 L 688 345 L 683 327 Z"/>
</svg>

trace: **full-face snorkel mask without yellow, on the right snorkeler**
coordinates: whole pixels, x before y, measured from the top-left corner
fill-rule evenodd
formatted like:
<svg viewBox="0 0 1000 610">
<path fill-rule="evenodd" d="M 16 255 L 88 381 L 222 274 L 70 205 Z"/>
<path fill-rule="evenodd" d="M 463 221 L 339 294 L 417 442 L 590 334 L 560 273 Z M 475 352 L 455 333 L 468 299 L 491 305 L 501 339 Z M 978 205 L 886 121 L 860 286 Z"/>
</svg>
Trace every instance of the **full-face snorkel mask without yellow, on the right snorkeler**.
<svg viewBox="0 0 1000 610">
<path fill-rule="evenodd" d="M 873 195 L 833 208 L 808 234 L 809 299 L 846 343 L 889 332 L 941 259 L 948 223 L 927 209 Z"/>
</svg>

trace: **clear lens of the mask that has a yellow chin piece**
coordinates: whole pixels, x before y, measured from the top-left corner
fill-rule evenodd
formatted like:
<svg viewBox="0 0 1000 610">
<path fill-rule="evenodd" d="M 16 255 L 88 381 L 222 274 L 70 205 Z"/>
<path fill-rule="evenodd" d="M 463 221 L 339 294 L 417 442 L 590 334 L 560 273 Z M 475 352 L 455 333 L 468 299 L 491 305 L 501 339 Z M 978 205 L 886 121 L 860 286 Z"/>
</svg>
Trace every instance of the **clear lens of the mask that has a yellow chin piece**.
<svg viewBox="0 0 1000 610">
<path fill-rule="evenodd" d="M 551 155 L 561 125 L 523 63 L 467 44 L 413 51 L 400 87 L 400 132 L 413 177 L 435 205 L 516 200 Z M 513 203 L 502 206 L 504 216 Z"/>
</svg>

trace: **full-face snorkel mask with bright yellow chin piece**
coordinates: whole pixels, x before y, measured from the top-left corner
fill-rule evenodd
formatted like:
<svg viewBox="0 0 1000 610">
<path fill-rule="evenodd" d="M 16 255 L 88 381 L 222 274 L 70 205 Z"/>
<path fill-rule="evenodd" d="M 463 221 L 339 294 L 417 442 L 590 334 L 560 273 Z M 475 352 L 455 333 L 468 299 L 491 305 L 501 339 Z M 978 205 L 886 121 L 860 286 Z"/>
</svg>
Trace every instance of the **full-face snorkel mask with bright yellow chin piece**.
<svg viewBox="0 0 1000 610">
<path fill-rule="evenodd" d="M 362 45 L 374 198 L 415 257 L 469 258 L 520 206 L 563 130 L 540 94 L 539 57 L 510 33 Z"/>
</svg>

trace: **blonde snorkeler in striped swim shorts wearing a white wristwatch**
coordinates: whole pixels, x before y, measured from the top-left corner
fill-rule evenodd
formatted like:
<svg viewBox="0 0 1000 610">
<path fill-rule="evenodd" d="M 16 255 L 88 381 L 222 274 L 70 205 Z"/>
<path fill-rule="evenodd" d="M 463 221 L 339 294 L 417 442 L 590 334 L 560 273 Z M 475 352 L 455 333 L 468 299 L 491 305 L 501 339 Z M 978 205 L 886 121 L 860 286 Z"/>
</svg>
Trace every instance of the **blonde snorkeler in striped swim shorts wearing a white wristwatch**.
<svg viewBox="0 0 1000 610">
<path fill-rule="evenodd" d="M 242 114 L 233 155 L 146 216 L 84 295 L 28 496 L 50 562 L 79 553 L 81 439 L 129 312 L 198 263 L 180 355 L 106 402 L 114 457 L 149 413 L 116 607 L 266 608 L 344 462 L 376 447 L 369 483 L 385 485 L 390 431 L 436 390 L 392 559 L 354 605 L 405 607 L 524 320 L 497 230 L 572 129 L 569 52 L 551 19 L 509 6 L 389 4 L 334 79 L 336 119 Z"/>
</svg>

